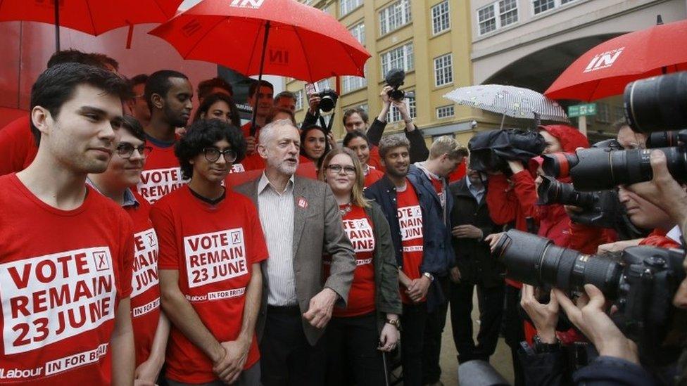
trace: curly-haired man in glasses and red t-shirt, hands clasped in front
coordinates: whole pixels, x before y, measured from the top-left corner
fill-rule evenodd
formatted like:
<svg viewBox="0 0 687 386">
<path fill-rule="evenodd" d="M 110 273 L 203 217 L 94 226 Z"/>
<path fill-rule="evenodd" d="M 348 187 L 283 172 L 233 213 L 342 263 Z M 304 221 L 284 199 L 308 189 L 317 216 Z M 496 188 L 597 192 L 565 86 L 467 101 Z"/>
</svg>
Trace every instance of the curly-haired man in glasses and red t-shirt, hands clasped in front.
<svg viewBox="0 0 687 386">
<path fill-rule="evenodd" d="M 151 210 L 162 305 L 172 322 L 171 385 L 260 382 L 255 326 L 267 246 L 255 205 L 222 186 L 245 146 L 225 122 L 194 122 L 176 147 L 189 184 Z"/>
</svg>

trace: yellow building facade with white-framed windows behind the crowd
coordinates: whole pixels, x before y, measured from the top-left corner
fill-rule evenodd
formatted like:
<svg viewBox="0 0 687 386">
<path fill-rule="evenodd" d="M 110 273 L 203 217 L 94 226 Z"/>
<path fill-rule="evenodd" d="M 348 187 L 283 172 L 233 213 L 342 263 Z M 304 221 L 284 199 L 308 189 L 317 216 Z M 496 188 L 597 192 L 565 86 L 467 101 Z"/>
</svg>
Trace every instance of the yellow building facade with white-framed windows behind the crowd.
<svg viewBox="0 0 687 386">
<path fill-rule="evenodd" d="M 456 0 L 320 0 L 303 1 L 328 12 L 348 27 L 372 58 L 365 65 L 366 77 L 325 79 L 320 86 L 339 89 L 332 131 L 337 139 L 345 130 L 341 117 L 348 108 L 367 110 L 370 120 L 379 115 L 379 94 L 384 75 L 392 68 L 406 72 L 401 89 L 412 92 L 407 98 L 410 115 L 424 135 L 456 133 L 462 143 L 472 136 L 472 120 L 479 112 L 458 106 L 443 95 L 472 84 L 469 3 Z M 323 52 L 322 55 L 327 55 Z M 296 120 L 303 121 L 308 96 L 303 82 L 286 79 L 285 88 L 298 97 Z M 401 117 L 391 109 L 386 133 L 403 129 Z M 477 115 L 476 115 L 477 114 Z"/>
</svg>

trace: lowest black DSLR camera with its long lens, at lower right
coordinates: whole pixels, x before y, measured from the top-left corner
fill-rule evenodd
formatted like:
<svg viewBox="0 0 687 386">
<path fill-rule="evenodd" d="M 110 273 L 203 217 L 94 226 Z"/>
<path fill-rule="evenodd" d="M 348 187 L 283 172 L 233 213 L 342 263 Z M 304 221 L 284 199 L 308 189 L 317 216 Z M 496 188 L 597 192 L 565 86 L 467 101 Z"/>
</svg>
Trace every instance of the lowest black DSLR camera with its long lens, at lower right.
<svg viewBox="0 0 687 386">
<path fill-rule="evenodd" d="M 493 255 L 505 264 L 509 278 L 523 283 L 572 293 L 595 285 L 617 307 L 611 319 L 637 343 L 645 363 L 668 364 L 681 352 L 685 314 L 672 306 L 685 278 L 681 250 L 629 247 L 617 260 L 513 229 L 501 236 Z"/>
</svg>

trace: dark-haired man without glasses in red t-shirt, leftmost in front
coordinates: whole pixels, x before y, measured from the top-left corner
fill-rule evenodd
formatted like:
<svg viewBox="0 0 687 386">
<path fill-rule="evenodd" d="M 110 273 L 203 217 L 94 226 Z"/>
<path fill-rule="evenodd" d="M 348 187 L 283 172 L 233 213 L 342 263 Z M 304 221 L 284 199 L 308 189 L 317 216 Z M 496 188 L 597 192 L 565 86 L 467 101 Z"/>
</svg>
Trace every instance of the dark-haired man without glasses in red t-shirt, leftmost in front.
<svg viewBox="0 0 687 386">
<path fill-rule="evenodd" d="M 131 385 L 132 221 L 85 184 L 117 141 L 127 84 L 56 65 L 31 92 L 40 146 L 0 177 L 0 382 Z"/>
</svg>

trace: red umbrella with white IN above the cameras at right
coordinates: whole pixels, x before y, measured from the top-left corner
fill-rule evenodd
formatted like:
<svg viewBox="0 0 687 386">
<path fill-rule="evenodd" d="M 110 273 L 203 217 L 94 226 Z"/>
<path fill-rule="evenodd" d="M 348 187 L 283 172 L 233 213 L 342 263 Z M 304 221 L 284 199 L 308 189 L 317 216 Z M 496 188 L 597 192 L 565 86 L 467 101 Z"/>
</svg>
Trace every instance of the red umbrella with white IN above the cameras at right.
<svg viewBox="0 0 687 386">
<path fill-rule="evenodd" d="M 687 20 L 614 37 L 575 60 L 544 95 L 593 101 L 622 94 L 636 79 L 687 70 L 686 47 Z"/>
</svg>

